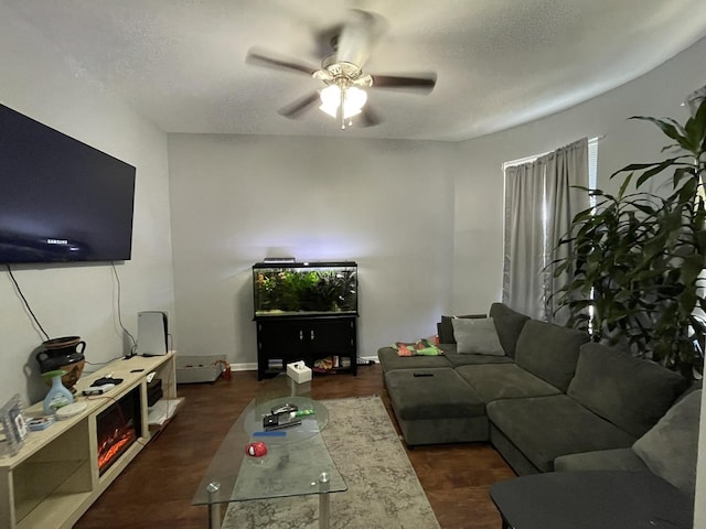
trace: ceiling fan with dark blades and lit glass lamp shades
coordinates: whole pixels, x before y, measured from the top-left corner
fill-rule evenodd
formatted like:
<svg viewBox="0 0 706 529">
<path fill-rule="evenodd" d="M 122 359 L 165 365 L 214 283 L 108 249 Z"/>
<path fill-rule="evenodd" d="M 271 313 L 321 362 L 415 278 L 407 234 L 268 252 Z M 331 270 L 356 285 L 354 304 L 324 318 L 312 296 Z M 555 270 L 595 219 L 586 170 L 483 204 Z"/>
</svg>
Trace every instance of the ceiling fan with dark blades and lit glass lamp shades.
<svg viewBox="0 0 706 529">
<path fill-rule="evenodd" d="M 365 74 L 363 66 L 370 56 L 374 42 L 383 33 L 382 17 L 368 11 L 350 10 L 349 20 L 334 30 L 330 36 L 333 53 L 325 56 L 321 67 L 277 57 L 269 52 L 250 48 L 246 62 L 259 66 L 286 69 L 310 75 L 322 82 L 322 88 L 280 108 L 278 112 L 287 118 L 299 118 L 304 110 L 319 102 L 325 114 L 338 118 L 341 128 L 353 125 L 352 118 L 360 116 L 359 125 L 373 127 L 381 118 L 367 102 L 368 88 L 392 88 L 429 94 L 437 80 L 436 74 L 414 76 Z"/>
</svg>

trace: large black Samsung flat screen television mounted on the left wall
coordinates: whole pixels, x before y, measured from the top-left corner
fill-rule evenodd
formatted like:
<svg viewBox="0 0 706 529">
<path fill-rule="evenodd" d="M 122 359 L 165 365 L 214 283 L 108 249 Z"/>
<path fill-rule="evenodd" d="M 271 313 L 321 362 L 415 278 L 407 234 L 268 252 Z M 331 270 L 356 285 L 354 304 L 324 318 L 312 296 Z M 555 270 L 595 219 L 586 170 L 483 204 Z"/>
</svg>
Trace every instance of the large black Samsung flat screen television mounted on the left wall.
<svg viewBox="0 0 706 529">
<path fill-rule="evenodd" d="M 0 105 L 0 263 L 129 260 L 135 173 Z"/>
</svg>

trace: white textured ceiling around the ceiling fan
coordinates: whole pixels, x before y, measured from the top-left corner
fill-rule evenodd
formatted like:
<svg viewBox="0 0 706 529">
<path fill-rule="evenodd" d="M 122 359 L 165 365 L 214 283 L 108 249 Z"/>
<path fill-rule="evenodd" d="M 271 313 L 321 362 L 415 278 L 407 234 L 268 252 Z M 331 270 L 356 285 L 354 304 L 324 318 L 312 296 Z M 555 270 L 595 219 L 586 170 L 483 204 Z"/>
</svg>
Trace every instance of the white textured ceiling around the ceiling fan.
<svg viewBox="0 0 706 529">
<path fill-rule="evenodd" d="M 703 0 L 0 0 L 76 75 L 168 132 L 461 140 L 602 94 L 706 35 Z M 341 131 L 313 107 L 277 109 L 322 87 L 245 63 L 257 46 L 319 67 L 350 8 L 385 31 L 364 72 L 436 72 L 430 95 L 371 89 L 383 119 Z"/>
</svg>

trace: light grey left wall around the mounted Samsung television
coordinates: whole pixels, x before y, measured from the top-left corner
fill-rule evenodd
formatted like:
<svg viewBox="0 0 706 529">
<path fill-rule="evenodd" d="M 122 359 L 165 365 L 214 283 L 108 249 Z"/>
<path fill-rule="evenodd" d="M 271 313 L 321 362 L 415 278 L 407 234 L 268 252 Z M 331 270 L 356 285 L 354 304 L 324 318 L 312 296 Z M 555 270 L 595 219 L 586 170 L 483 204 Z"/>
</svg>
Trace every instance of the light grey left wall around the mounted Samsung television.
<svg viewBox="0 0 706 529">
<path fill-rule="evenodd" d="M 167 136 L 55 50 L 31 29 L 4 24 L 0 102 L 137 168 L 132 259 L 116 267 L 122 323 L 137 335 L 138 311 L 173 312 Z M 117 284 L 108 264 L 13 266 L 12 270 L 52 337 L 81 335 L 92 363 L 127 352 L 118 325 Z M 4 267 L 0 300 L 0 406 L 14 393 L 35 402 L 46 387 L 32 352 L 45 338 Z"/>
</svg>

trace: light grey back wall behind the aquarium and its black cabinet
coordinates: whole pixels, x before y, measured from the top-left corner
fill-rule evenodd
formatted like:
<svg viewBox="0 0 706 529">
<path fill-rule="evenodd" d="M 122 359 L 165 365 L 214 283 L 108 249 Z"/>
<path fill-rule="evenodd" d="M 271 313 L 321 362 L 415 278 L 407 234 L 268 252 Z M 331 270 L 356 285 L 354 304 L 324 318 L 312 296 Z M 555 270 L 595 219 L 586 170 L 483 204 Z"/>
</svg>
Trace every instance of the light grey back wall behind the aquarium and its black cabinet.
<svg viewBox="0 0 706 529">
<path fill-rule="evenodd" d="M 180 353 L 255 363 L 252 266 L 359 263 L 359 354 L 436 332 L 450 296 L 453 145 L 170 134 Z"/>
</svg>

